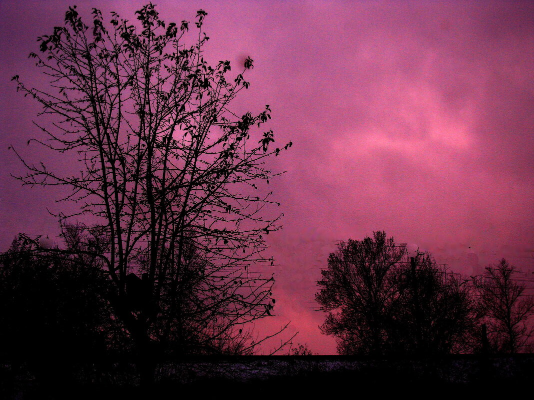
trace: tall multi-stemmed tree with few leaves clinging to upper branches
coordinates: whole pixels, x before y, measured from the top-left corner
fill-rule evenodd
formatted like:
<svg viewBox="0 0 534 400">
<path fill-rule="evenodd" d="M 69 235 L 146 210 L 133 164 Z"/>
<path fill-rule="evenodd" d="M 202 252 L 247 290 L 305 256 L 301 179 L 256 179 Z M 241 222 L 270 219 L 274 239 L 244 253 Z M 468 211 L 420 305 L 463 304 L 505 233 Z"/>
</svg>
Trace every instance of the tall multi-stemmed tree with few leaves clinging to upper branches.
<svg viewBox="0 0 534 400">
<path fill-rule="evenodd" d="M 266 159 L 280 153 L 272 149 L 272 131 L 254 131 L 271 110 L 238 117 L 230 109 L 249 86 L 244 75 L 253 60 L 231 78 L 229 61 L 210 66 L 203 58 L 209 39 L 203 10 L 191 44 L 189 24 L 164 22 L 152 4 L 136 11 L 137 26 L 111 15 L 108 28 L 93 9 L 87 26 L 69 7 L 65 27 L 40 37 L 41 52 L 30 54 L 51 86 L 34 89 L 13 77 L 52 119 L 36 123 L 45 138 L 32 140 L 81 162 L 79 174 L 64 175 L 13 150 L 28 170 L 18 179 L 71 188 L 66 199 L 81 202 L 81 213 L 105 229 L 107 246 L 92 252 L 104 262 L 116 289 L 115 313 L 141 359 L 171 336 L 189 341 L 184 318 L 162 325 L 170 310 L 196 318 L 202 304 L 201 314 L 217 310 L 218 318 L 199 317 L 205 329 L 197 333 L 221 340 L 242 335 L 246 323 L 271 314 L 274 281 L 249 269 L 268 261 L 263 235 L 280 228 L 279 217 L 263 212 L 278 203 L 271 193 L 257 193 L 260 182 L 276 175 Z M 58 214 L 64 228 L 72 217 Z"/>
</svg>

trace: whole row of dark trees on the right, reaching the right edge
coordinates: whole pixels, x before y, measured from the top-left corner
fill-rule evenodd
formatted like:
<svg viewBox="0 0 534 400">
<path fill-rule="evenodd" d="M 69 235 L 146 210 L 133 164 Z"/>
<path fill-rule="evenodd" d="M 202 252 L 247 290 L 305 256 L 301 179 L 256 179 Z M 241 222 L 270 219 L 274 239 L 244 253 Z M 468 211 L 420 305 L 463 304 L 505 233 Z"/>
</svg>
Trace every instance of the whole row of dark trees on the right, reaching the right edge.
<svg viewBox="0 0 534 400">
<path fill-rule="evenodd" d="M 516 272 L 502 259 L 464 279 L 383 231 L 341 242 L 318 282 L 321 331 L 344 355 L 528 353 L 534 298 Z"/>
</svg>

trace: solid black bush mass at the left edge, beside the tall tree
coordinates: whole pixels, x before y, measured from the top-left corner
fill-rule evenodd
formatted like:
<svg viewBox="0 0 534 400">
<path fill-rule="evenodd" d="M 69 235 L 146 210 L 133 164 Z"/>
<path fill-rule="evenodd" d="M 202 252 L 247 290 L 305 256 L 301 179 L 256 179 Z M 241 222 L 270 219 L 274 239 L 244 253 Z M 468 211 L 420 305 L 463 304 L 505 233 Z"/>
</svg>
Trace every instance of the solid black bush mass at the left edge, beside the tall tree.
<svg viewBox="0 0 534 400">
<path fill-rule="evenodd" d="M 0 257 L 3 361 L 98 361 L 127 348 L 109 290 L 100 268 L 14 242 Z"/>
</svg>

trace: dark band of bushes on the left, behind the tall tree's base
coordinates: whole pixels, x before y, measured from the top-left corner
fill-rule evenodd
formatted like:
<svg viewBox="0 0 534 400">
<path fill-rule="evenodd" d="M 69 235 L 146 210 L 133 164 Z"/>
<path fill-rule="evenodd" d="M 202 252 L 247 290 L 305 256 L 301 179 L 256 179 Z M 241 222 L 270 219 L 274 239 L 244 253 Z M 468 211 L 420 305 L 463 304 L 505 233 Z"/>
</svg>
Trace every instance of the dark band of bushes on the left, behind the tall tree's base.
<svg viewBox="0 0 534 400">
<path fill-rule="evenodd" d="M 244 329 L 241 317 L 254 319 L 250 303 L 256 307 L 257 293 L 265 291 L 264 283 L 270 287 L 272 279 L 255 276 L 253 282 L 221 271 L 187 241 L 181 267 L 164 277 L 156 295 L 146 284 L 142 267 L 132 266 L 122 287 L 114 284 L 102 257 L 106 239 L 96 231 L 89 235 L 69 226 L 62 236 L 65 245 L 60 248 L 43 247 L 45 241 L 21 235 L 0 254 L 3 362 L 139 362 L 144 349 L 139 349 L 136 332 L 125 321 L 134 317 L 150 318 L 148 346 L 154 361 L 186 355 L 250 355 L 261 343 Z M 238 279 L 242 282 L 234 282 Z M 240 291 L 244 284 L 256 286 L 248 298 Z M 142 361 L 147 362 L 146 357 Z"/>
</svg>

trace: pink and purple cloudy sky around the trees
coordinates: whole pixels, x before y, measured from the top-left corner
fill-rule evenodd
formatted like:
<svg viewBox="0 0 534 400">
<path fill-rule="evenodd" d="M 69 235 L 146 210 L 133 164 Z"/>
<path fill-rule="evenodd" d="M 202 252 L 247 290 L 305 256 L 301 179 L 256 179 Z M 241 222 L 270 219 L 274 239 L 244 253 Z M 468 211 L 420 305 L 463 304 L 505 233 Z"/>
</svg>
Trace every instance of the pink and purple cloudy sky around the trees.
<svg viewBox="0 0 534 400">
<path fill-rule="evenodd" d="M 133 19 L 143 3 L 77 5 Z M 271 163 L 287 170 L 270 185 L 285 217 L 268 238 L 277 316 L 258 331 L 291 321 L 295 341 L 335 353 L 311 310 L 315 281 L 335 241 L 373 230 L 461 273 L 502 257 L 534 272 L 532 2 L 154 3 L 166 21 L 206 10 L 209 56 L 255 61 L 237 107 L 271 105 L 277 143 L 294 143 Z M 57 234 L 46 207 L 58 194 L 10 177 L 20 168 L 8 146 L 48 157 L 26 147 L 39 108 L 10 78 L 43 82 L 27 55 L 70 4 L 0 3 L 1 250 L 20 231 Z"/>
</svg>

